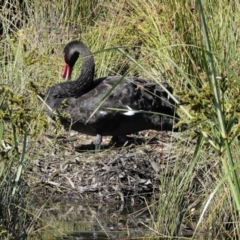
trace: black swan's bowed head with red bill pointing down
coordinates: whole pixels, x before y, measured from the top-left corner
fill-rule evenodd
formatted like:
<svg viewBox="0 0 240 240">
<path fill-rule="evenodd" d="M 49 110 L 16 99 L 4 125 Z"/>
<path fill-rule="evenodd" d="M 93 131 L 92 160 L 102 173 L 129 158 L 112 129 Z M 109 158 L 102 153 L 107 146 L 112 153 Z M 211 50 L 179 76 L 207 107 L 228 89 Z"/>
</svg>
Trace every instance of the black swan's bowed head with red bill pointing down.
<svg viewBox="0 0 240 240">
<path fill-rule="evenodd" d="M 71 79 L 73 67 L 79 57 L 79 41 L 72 41 L 68 43 L 63 50 L 64 67 L 62 77 L 66 80 Z"/>
</svg>

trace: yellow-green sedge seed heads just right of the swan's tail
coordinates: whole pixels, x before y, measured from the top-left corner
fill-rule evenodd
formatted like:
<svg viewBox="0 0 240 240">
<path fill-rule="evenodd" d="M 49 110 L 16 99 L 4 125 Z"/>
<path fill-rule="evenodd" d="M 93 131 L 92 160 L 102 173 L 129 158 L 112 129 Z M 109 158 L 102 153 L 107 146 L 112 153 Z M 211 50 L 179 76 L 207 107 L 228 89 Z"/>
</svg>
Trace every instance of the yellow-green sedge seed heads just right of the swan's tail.
<svg viewBox="0 0 240 240">
<path fill-rule="evenodd" d="M 239 134 L 240 129 L 238 120 L 240 118 L 239 91 L 234 78 L 219 77 L 216 81 L 216 87 L 219 89 L 222 112 L 227 123 L 228 138 L 231 142 Z M 217 122 L 217 114 L 213 105 L 214 93 L 210 85 L 208 83 L 203 84 L 201 91 L 197 95 L 191 89 L 186 93 L 179 92 L 179 95 L 184 105 L 188 106 L 189 113 L 192 116 L 188 123 L 191 126 L 197 126 L 195 132 L 200 133 L 204 131 L 209 136 L 210 143 L 213 144 L 215 142 L 214 147 L 220 150 L 221 143 L 217 139 L 214 140 L 214 135 L 211 134 L 213 130 L 212 125 L 215 125 Z M 219 133 L 218 137 L 220 137 L 220 129 L 217 126 L 216 128 Z"/>
</svg>

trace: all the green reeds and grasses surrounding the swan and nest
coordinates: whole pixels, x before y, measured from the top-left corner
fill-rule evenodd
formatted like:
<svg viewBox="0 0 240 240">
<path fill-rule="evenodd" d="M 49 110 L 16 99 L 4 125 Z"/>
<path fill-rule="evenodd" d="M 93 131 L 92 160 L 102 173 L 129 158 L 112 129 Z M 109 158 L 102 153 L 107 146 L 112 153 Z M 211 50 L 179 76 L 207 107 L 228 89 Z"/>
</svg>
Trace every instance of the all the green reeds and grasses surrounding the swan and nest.
<svg viewBox="0 0 240 240">
<path fill-rule="evenodd" d="M 25 172 L 37 155 L 31 152 L 34 147 L 27 146 L 41 140 L 46 131 L 54 129 L 56 136 L 62 131 L 48 122 L 36 92 L 44 93 L 62 81 L 59 72 L 63 46 L 72 39 L 82 39 L 94 53 L 96 77 L 128 72 L 158 83 L 165 78 L 181 98 L 181 123 L 187 123 L 189 129 L 170 143 L 169 158 L 176 156 L 171 166 L 174 174 L 169 176 L 166 169 L 166 174 L 159 176 L 161 196 L 153 236 L 178 236 L 180 224 L 186 223 L 193 226 L 196 234 L 224 233 L 237 238 L 240 3 L 3 2 L 0 236 L 19 236 L 25 234 L 22 229 L 26 233 L 32 229 L 33 222 L 26 225 L 29 200 L 24 182 Z M 78 67 L 73 75 L 78 75 Z M 47 144 L 43 141 L 43 148 Z M 179 155 L 183 149 L 184 159 Z M 182 167 L 183 162 L 187 167 Z M 13 223 L 13 215 L 17 214 L 21 217 Z"/>
</svg>

